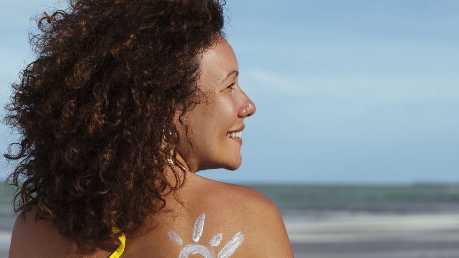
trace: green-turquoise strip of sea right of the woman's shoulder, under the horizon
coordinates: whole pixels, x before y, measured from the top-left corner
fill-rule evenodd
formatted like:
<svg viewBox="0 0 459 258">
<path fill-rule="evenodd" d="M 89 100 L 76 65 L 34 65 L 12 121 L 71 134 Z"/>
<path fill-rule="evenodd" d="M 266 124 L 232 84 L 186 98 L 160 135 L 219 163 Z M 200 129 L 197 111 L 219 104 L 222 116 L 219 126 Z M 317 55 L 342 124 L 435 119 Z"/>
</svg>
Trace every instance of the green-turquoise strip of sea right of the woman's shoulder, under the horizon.
<svg viewBox="0 0 459 258">
<path fill-rule="evenodd" d="M 281 213 L 432 213 L 459 211 L 459 185 L 246 185 L 271 199 Z"/>
</svg>

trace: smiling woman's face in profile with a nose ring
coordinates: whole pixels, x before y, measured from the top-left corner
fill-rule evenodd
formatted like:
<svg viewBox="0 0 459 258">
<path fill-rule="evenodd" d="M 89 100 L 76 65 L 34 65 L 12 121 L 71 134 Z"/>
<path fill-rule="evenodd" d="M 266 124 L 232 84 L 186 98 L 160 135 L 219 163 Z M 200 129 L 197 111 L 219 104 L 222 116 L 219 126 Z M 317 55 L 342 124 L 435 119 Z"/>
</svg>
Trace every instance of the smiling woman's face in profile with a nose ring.
<svg viewBox="0 0 459 258">
<path fill-rule="evenodd" d="M 255 104 L 240 88 L 238 74 L 236 56 L 225 39 L 221 38 L 203 53 L 197 84 L 207 96 L 207 102 L 203 99 L 182 117 L 189 126 L 192 151 L 183 143 L 184 133 L 178 127 L 183 139 L 179 151 L 192 172 L 213 168 L 235 170 L 241 165 L 243 136 L 232 138 L 231 132 L 244 129 L 243 120 L 255 112 Z"/>
</svg>

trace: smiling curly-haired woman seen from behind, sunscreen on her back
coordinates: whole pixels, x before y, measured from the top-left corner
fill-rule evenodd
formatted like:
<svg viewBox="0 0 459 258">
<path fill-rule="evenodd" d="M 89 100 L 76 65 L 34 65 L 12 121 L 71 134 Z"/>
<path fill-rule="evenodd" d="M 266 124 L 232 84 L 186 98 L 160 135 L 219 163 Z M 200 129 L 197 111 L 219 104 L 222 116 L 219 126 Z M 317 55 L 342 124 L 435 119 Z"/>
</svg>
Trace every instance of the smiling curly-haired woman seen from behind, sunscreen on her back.
<svg viewBox="0 0 459 258">
<path fill-rule="evenodd" d="M 293 256 L 270 200 L 196 175 L 240 166 L 256 109 L 223 22 L 216 0 L 45 13 L 7 106 L 23 136 L 5 155 L 21 160 L 10 257 Z"/>
</svg>

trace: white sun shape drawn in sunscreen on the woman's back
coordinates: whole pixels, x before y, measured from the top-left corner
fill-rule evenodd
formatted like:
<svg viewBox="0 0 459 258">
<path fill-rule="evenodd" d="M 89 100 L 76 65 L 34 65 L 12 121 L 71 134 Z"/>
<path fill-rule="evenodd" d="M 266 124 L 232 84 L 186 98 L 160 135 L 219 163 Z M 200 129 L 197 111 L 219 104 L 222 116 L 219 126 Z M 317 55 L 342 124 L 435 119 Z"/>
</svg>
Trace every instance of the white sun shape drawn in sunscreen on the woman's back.
<svg viewBox="0 0 459 258">
<path fill-rule="evenodd" d="M 202 235 L 202 230 L 204 229 L 204 220 L 205 214 L 202 213 L 194 222 L 193 228 L 193 241 L 198 242 L 199 238 Z M 180 235 L 175 231 L 169 231 L 167 233 L 169 239 L 177 245 L 183 245 L 183 240 Z M 218 246 L 220 244 L 221 238 L 223 237 L 222 233 L 215 234 L 209 242 L 210 246 Z M 218 256 L 215 256 L 215 252 L 201 244 L 187 244 L 180 251 L 178 258 L 187 258 L 188 255 L 201 254 L 204 258 L 227 258 L 231 256 L 236 249 L 241 245 L 244 235 L 241 232 L 236 233 L 231 240 L 220 250 Z"/>
</svg>

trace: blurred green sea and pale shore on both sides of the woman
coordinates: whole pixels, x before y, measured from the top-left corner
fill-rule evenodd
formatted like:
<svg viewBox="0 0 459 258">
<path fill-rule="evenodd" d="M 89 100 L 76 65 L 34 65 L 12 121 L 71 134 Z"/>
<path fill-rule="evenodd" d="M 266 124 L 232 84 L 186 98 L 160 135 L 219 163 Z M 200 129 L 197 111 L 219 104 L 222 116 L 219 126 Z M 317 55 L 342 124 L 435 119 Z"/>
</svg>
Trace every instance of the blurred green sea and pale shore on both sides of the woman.
<svg viewBox="0 0 459 258">
<path fill-rule="evenodd" d="M 244 185 L 276 204 L 295 257 L 459 257 L 459 185 Z M 6 257 L 13 191 L 0 193 Z"/>
</svg>

